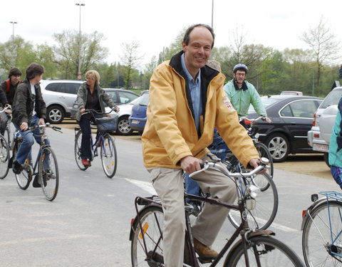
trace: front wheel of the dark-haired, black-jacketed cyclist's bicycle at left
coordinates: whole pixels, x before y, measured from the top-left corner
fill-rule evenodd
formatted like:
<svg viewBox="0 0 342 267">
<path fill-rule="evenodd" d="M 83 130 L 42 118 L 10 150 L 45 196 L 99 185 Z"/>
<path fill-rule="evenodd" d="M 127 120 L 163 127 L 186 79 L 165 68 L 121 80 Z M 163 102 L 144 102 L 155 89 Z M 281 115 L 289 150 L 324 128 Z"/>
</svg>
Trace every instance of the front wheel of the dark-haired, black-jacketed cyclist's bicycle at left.
<svg viewBox="0 0 342 267">
<path fill-rule="evenodd" d="M 50 146 L 43 147 L 38 162 L 41 189 L 46 199 L 56 199 L 59 186 L 59 172 L 56 155 Z"/>
</svg>

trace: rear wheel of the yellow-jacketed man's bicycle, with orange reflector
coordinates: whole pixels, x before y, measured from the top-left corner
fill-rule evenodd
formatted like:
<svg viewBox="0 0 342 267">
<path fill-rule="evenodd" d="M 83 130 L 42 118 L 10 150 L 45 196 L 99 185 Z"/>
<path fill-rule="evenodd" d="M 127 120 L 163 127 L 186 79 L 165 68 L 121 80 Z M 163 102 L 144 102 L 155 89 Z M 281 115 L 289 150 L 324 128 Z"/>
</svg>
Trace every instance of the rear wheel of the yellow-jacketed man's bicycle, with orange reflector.
<svg viewBox="0 0 342 267">
<path fill-rule="evenodd" d="M 159 266 L 157 264 L 164 264 L 161 236 L 162 230 L 164 229 L 164 213 L 162 211 L 162 206 L 145 206 L 140 211 L 140 222 L 142 225 L 142 231 L 145 233 L 147 251 L 145 251 L 143 245 L 140 225 L 138 224 L 138 221 L 135 221 L 132 226 L 133 238 L 130 248 L 132 267 Z M 160 242 L 156 248 L 159 240 Z M 152 256 L 152 251 L 155 251 L 154 256 Z M 184 262 L 190 263 L 190 258 L 190 243 L 185 239 Z"/>
</svg>

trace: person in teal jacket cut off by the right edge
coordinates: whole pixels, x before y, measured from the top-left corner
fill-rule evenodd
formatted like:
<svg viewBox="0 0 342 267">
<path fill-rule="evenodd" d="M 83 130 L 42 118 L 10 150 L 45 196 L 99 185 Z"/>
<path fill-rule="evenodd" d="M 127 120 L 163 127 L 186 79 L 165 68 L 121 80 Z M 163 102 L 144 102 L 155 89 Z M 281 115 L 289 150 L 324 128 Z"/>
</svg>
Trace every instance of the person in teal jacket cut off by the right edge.
<svg viewBox="0 0 342 267">
<path fill-rule="evenodd" d="M 342 98 L 338 102 L 338 111 L 331 131 L 329 145 L 329 164 L 333 179 L 342 189 Z"/>
</svg>

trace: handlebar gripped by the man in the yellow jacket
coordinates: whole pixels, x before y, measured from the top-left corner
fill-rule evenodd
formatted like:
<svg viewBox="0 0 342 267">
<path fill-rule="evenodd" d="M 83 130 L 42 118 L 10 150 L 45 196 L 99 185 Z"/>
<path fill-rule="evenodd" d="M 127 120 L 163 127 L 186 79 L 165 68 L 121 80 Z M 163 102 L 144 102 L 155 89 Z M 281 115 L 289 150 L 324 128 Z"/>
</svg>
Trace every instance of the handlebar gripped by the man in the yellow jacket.
<svg viewBox="0 0 342 267">
<path fill-rule="evenodd" d="M 229 172 L 227 168 L 224 168 L 220 164 L 214 162 L 204 162 L 204 164 L 201 164 L 201 167 L 203 166 L 202 169 L 199 169 L 199 171 L 196 172 L 192 172 L 192 174 L 190 174 L 189 176 L 192 177 L 196 174 L 199 174 L 200 172 L 204 172 L 206 169 L 209 169 L 209 167 L 212 167 L 219 169 L 220 172 L 227 175 L 228 177 L 251 177 L 266 168 L 267 164 L 269 164 L 269 159 L 266 159 L 266 157 L 261 157 L 261 164 L 257 168 L 252 169 L 251 172 L 244 172 L 243 174 L 241 174 L 239 172 Z"/>
</svg>

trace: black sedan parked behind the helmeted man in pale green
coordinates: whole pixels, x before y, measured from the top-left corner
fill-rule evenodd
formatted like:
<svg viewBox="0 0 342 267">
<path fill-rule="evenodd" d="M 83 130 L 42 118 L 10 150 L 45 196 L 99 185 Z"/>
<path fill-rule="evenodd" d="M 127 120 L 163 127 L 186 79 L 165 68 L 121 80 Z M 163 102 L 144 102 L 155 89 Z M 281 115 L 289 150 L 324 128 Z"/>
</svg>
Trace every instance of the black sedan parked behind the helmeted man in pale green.
<svg viewBox="0 0 342 267">
<path fill-rule="evenodd" d="M 259 141 L 271 152 L 274 162 L 283 162 L 289 154 L 311 153 L 306 141 L 313 115 L 322 98 L 302 95 L 271 95 L 261 97 L 272 122 L 258 120 Z M 252 108 L 249 118 L 259 115 Z"/>
</svg>

